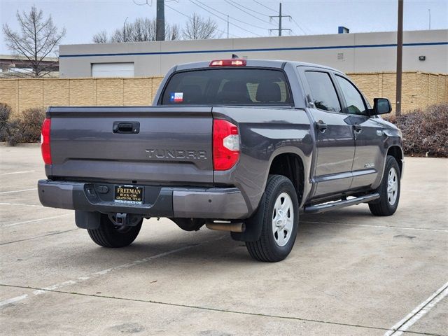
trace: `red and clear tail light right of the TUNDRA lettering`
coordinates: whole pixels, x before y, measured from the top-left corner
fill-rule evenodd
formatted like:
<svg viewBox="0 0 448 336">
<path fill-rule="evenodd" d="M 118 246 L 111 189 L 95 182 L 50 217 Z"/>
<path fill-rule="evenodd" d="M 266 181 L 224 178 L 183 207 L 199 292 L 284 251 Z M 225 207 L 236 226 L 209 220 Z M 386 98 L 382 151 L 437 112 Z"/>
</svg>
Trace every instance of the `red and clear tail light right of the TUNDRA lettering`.
<svg viewBox="0 0 448 336">
<path fill-rule="evenodd" d="M 227 120 L 213 120 L 213 167 L 228 170 L 239 160 L 238 127 Z"/>
</svg>

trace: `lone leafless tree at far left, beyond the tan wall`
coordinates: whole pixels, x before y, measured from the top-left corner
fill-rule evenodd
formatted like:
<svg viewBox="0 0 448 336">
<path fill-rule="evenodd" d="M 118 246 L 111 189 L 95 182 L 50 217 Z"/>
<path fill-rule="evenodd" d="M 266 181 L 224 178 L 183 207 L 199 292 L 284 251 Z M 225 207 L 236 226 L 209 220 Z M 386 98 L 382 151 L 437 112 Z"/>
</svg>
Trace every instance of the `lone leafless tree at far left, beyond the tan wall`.
<svg viewBox="0 0 448 336">
<path fill-rule="evenodd" d="M 57 62 L 45 62 L 45 57 L 52 55 L 57 45 L 65 35 L 65 28 L 61 31 L 53 24 L 51 15 L 43 17 L 42 10 L 32 6 L 29 13 L 20 14 L 17 11 L 20 31 L 13 31 L 8 24 L 3 25 L 3 34 L 8 48 L 15 54 L 25 57 L 31 64 L 29 76 L 41 77 L 50 72 Z"/>
</svg>

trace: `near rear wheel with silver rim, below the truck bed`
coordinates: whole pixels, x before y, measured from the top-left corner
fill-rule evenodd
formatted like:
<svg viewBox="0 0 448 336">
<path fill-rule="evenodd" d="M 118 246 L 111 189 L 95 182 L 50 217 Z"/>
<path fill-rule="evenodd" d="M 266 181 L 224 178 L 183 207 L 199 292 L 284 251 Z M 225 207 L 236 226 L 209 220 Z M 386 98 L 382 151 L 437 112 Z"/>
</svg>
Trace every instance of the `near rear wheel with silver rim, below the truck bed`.
<svg viewBox="0 0 448 336">
<path fill-rule="evenodd" d="M 246 241 L 246 248 L 256 260 L 277 262 L 288 256 L 297 236 L 299 203 L 293 183 L 285 176 L 270 175 L 264 205 L 259 207 L 264 210 L 260 238 L 258 241 Z M 286 207 L 286 211 L 282 207 Z"/>
</svg>

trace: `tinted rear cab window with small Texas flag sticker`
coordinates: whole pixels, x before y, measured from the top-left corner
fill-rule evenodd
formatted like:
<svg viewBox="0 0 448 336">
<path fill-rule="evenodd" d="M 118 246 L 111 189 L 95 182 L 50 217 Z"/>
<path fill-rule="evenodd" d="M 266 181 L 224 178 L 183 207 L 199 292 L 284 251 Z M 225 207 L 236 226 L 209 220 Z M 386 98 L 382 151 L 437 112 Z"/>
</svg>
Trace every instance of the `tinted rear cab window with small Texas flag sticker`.
<svg viewBox="0 0 448 336">
<path fill-rule="evenodd" d="M 282 71 L 206 69 L 174 73 L 162 105 L 288 105 L 292 99 Z"/>
</svg>

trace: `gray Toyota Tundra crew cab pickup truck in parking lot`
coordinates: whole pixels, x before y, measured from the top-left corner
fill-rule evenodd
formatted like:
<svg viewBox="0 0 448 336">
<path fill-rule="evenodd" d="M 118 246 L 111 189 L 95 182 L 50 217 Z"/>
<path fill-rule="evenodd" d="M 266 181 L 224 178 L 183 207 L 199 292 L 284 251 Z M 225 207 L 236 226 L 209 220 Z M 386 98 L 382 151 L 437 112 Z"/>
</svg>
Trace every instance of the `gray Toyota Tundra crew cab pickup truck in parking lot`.
<svg viewBox="0 0 448 336">
<path fill-rule="evenodd" d="M 231 232 L 257 260 L 283 260 L 299 214 L 398 207 L 400 130 L 326 66 L 220 59 L 174 66 L 153 106 L 50 107 L 42 128 L 45 207 L 75 210 L 105 247 L 144 218 Z"/>
</svg>

